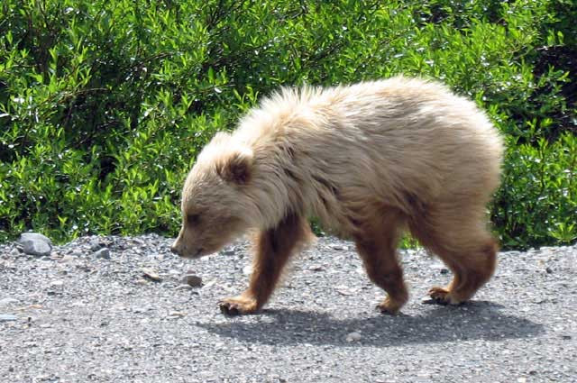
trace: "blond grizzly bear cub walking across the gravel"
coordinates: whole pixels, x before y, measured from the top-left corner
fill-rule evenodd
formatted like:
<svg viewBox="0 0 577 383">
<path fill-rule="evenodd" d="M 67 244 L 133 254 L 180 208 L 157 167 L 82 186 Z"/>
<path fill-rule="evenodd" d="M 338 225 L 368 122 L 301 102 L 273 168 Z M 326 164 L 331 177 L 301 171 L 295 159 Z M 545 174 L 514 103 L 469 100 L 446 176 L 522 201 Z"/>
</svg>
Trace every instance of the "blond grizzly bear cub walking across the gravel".
<svg viewBox="0 0 577 383">
<path fill-rule="evenodd" d="M 314 239 L 307 217 L 351 238 L 395 314 L 408 300 L 396 248 L 408 231 L 453 271 L 432 287 L 458 305 L 491 277 L 486 205 L 499 186 L 499 133 L 471 101 L 421 79 L 282 89 L 206 145 L 182 191 L 172 251 L 198 258 L 255 229 L 249 287 L 220 302 L 249 314 L 287 260 Z"/>
</svg>

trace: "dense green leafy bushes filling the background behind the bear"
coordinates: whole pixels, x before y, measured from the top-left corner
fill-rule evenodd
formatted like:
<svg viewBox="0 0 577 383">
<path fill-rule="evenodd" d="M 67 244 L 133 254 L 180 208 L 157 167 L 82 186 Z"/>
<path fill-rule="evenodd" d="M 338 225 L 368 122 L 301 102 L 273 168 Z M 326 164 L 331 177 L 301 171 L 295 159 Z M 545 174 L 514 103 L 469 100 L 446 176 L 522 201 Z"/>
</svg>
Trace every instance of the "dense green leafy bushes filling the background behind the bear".
<svg viewBox="0 0 577 383">
<path fill-rule="evenodd" d="M 405 73 L 508 137 L 503 244 L 574 242 L 576 17 L 563 0 L 5 0 L 0 241 L 174 235 L 198 150 L 259 96 Z"/>
</svg>

